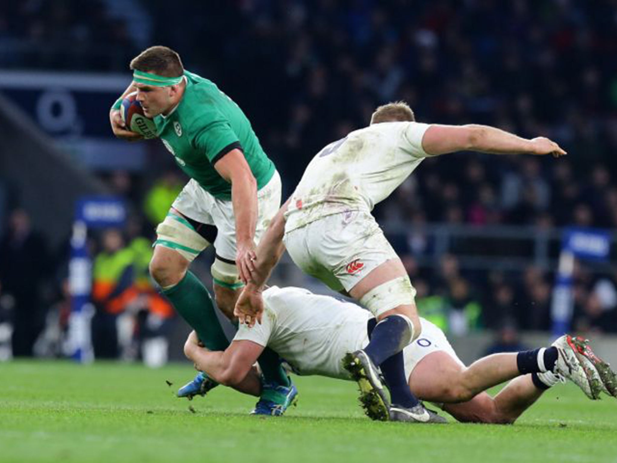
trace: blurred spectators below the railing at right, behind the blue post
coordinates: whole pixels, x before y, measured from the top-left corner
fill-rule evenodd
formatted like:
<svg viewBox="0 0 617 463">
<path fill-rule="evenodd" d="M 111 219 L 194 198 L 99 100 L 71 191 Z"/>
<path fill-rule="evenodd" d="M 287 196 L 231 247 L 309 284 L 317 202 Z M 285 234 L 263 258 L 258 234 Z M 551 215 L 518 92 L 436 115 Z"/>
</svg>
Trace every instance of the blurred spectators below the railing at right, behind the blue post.
<svg viewBox="0 0 617 463">
<path fill-rule="evenodd" d="M 445 254 L 437 268 L 402 257 L 423 317 L 463 336 L 489 328 L 550 331 L 555 273 L 529 265 L 523 272 L 471 272 Z M 617 271 L 596 273 L 577 262 L 573 330 L 617 333 Z"/>
</svg>

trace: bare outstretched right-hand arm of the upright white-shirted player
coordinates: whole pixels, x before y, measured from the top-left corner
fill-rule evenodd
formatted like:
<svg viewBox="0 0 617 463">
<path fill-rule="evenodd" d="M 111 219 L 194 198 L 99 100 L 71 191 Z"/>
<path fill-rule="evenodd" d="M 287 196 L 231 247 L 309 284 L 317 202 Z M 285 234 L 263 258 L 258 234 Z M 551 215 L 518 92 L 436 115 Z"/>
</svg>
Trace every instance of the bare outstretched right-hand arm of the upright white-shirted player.
<svg viewBox="0 0 617 463">
<path fill-rule="evenodd" d="M 422 148 L 428 154 L 455 151 L 480 151 L 491 154 L 566 154 L 554 141 L 539 136 L 532 140 L 487 125 L 431 125 L 422 138 Z"/>
</svg>

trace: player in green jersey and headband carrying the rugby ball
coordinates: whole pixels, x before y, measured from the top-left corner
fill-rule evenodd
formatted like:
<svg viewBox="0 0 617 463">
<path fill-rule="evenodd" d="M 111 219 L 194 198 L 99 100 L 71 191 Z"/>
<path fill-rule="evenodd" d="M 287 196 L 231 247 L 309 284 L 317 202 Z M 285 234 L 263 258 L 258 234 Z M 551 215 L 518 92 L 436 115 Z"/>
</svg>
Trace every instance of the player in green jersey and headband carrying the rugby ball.
<svg viewBox="0 0 617 463">
<path fill-rule="evenodd" d="M 110 111 L 112 130 L 123 140 L 140 140 L 120 118 L 122 98 L 136 91 L 144 115 L 191 180 L 157 227 L 150 272 L 176 311 L 204 345 L 225 350 L 228 341 L 204 285 L 188 269 L 213 244 L 213 288 L 229 318 L 253 269 L 255 242 L 281 202 L 281 178 L 240 107 L 211 81 L 184 70 L 180 56 L 154 46 L 131 61 L 133 82 Z M 260 357 L 264 381 L 254 412 L 282 414 L 297 390 L 272 351 Z M 213 383 L 204 373 L 178 391 L 192 398 Z"/>
</svg>

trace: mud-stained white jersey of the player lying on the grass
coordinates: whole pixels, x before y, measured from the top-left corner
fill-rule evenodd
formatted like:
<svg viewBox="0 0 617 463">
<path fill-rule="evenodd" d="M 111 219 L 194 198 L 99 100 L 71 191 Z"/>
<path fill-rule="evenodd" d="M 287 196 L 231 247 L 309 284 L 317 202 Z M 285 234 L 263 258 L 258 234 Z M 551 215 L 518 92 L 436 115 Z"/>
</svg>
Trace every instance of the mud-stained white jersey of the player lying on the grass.
<svg viewBox="0 0 617 463">
<path fill-rule="evenodd" d="M 268 346 L 299 375 L 349 379 L 342 368 L 347 352 L 368 344 L 370 312 L 350 302 L 302 288 L 263 291 L 262 323 L 240 325 L 234 341 Z"/>
</svg>

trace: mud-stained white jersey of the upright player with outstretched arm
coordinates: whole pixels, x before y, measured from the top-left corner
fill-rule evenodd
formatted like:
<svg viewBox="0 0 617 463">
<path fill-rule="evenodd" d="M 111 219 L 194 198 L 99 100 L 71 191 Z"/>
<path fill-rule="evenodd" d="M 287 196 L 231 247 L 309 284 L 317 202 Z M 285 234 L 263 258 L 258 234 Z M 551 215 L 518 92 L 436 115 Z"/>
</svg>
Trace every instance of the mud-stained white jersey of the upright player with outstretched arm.
<svg viewBox="0 0 617 463">
<path fill-rule="evenodd" d="M 373 210 L 429 156 L 419 122 L 383 122 L 355 130 L 313 157 L 292 194 L 286 231 L 326 215 Z"/>
</svg>

